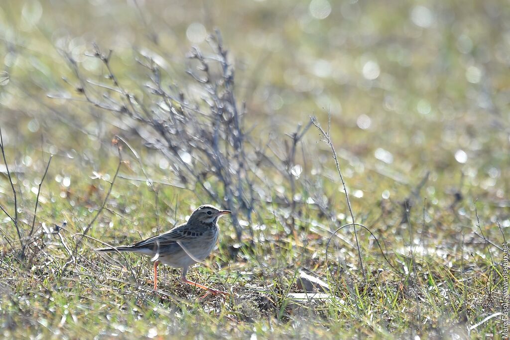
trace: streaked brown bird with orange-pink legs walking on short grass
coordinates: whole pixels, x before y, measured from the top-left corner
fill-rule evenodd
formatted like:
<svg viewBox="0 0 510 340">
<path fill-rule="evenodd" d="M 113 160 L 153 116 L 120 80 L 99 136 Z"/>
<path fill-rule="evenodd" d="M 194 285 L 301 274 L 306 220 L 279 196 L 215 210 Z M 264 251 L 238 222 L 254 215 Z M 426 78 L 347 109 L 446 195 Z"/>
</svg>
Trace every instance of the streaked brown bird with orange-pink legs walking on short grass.
<svg viewBox="0 0 510 340">
<path fill-rule="evenodd" d="M 230 295 L 186 278 L 188 268 L 205 259 L 213 251 L 218 240 L 218 219 L 230 210 L 219 210 L 210 204 L 200 205 L 190 216 L 188 222 L 166 232 L 134 243 L 129 246 L 117 246 L 95 249 L 98 252 L 133 252 L 152 256 L 154 261 L 154 290 L 158 289 L 158 266 L 160 263 L 173 268 L 181 268 L 181 281 L 206 290 L 209 294 Z"/>
</svg>

